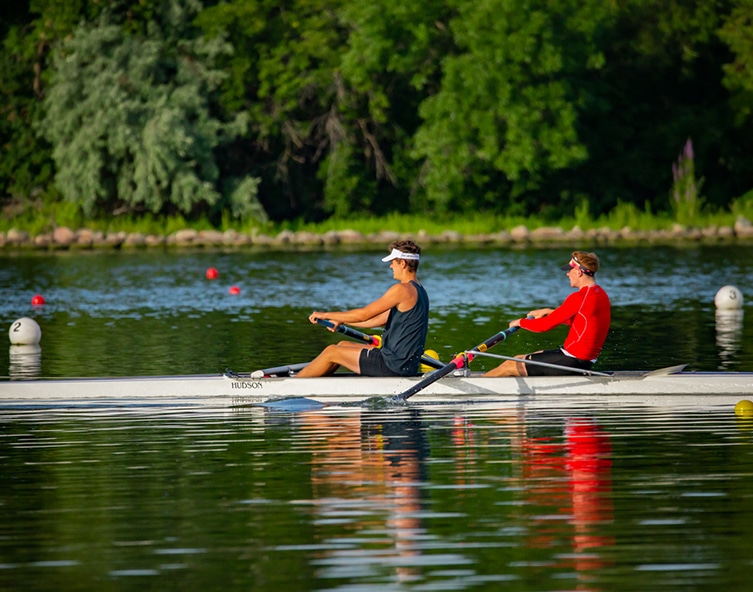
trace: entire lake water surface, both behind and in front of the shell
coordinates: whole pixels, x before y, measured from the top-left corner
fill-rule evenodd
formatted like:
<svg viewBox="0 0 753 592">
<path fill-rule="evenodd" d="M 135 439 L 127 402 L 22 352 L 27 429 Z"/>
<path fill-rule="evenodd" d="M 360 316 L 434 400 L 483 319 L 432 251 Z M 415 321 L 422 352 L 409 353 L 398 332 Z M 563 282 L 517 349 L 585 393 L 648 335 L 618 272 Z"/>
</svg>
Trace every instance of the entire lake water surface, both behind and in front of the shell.
<svg viewBox="0 0 753 592">
<path fill-rule="evenodd" d="M 4 255 L 0 319 L 31 316 L 43 336 L 36 355 L 0 348 L 0 365 L 102 376 L 305 361 L 337 339 L 311 310 L 390 285 L 383 251 Z M 753 370 L 750 305 L 729 317 L 713 303 L 726 284 L 753 302 L 753 249 L 598 252 L 614 320 L 597 369 Z M 428 346 L 446 359 L 556 306 L 568 257 L 425 249 Z M 751 540 L 753 422 L 726 407 L 0 405 L 0 590 L 747 590 Z"/>
</svg>

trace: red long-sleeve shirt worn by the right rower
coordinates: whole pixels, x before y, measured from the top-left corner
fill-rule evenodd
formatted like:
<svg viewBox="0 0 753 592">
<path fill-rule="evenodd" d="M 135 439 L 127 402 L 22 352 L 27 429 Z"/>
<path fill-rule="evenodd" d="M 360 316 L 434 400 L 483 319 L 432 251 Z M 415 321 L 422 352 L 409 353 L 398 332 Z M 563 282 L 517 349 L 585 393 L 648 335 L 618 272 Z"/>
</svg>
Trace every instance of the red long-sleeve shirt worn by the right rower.
<svg viewBox="0 0 753 592">
<path fill-rule="evenodd" d="M 562 348 L 579 360 L 596 360 L 609 332 L 611 318 L 609 296 L 598 284 L 584 286 L 540 319 L 521 319 L 520 326 L 543 333 L 557 325 L 570 325 Z"/>
</svg>

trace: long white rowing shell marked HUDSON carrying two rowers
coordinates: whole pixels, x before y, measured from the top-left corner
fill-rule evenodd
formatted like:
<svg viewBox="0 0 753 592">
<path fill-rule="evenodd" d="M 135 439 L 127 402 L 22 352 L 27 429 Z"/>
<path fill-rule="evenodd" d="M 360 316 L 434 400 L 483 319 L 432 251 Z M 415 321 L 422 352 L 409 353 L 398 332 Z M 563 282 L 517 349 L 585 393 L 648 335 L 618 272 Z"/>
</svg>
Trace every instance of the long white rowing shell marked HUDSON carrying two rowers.
<svg viewBox="0 0 753 592">
<path fill-rule="evenodd" d="M 753 372 L 684 372 L 673 366 L 652 372 L 617 371 L 600 376 L 489 378 L 447 376 L 410 404 L 590 399 L 650 405 L 734 405 L 753 397 Z M 352 374 L 323 378 L 252 378 L 250 374 L 34 379 L 0 382 L 0 408 L 66 404 L 167 404 L 248 406 L 304 397 L 321 404 L 388 399 L 421 377 L 371 378 Z"/>
</svg>

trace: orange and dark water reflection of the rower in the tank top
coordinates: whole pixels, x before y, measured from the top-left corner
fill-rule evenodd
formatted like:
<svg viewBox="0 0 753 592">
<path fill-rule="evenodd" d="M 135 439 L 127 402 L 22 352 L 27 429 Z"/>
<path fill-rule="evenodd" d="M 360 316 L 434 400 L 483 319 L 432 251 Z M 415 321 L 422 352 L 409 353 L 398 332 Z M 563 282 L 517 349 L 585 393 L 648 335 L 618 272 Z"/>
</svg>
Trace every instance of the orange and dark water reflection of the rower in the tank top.
<svg viewBox="0 0 753 592">
<path fill-rule="evenodd" d="M 311 458 L 312 504 L 330 548 L 315 560 L 321 576 L 387 569 L 398 582 L 416 579 L 415 542 L 427 536 L 419 516 L 428 445 L 419 412 L 308 413 L 301 434 L 319 443 Z"/>
</svg>

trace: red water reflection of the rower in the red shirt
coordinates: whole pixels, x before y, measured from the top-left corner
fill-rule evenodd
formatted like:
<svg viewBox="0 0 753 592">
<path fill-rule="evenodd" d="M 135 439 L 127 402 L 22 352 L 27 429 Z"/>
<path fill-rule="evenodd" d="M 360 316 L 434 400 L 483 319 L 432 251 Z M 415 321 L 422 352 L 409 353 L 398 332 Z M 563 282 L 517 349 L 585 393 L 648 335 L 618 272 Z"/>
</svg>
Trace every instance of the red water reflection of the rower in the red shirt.
<svg viewBox="0 0 753 592">
<path fill-rule="evenodd" d="M 586 417 L 568 417 L 552 431 L 548 424 L 542 429 L 541 418 L 528 417 L 523 409 L 495 415 L 495 427 L 508 438 L 512 461 L 504 490 L 514 495 L 503 502 L 509 508 L 504 523 L 524 533 L 518 542 L 522 560 L 510 566 L 521 574 L 534 566 L 560 577 L 571 577 L 563 576 L 569 572 L 578 589 L 598 589 L 592 580 L 611 565 L 605 556 L 615 545 L 605 528 L 614 522 L 610 434 Z M 483 427 L 465 416 L 453 421 L 458 486 L 474 483 L 472 476 L 483 474 L 483 466 L 474 471 L 474 465 L 483 465 L 485 449 L 494 445 Z"/>
</svg>

